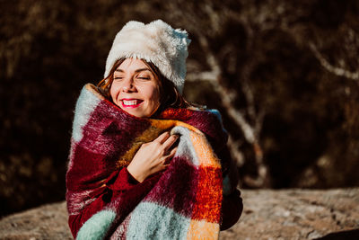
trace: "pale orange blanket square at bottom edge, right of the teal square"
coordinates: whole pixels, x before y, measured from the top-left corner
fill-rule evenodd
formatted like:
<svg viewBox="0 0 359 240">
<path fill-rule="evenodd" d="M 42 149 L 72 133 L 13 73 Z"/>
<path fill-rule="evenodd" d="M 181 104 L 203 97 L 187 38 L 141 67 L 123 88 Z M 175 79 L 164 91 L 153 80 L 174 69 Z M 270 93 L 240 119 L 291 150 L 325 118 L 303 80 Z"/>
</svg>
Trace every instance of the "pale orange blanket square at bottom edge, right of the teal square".
<svg viewBox="0 0 359 240">
<path fill-rule="evenodd" d="M 187 239 L 205 240 L 218 239 L 219 224 L 206 221 L 191 220 L 188 227 Z"/>
</svg>

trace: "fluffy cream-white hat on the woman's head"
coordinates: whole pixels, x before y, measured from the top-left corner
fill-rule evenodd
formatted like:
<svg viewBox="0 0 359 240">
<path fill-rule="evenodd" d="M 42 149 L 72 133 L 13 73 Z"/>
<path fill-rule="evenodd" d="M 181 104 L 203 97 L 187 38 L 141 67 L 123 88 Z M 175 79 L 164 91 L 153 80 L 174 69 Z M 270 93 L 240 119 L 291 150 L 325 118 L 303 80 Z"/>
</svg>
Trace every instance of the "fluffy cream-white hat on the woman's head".
<svg viewBox="0 0 359 240">
<path fill-rule="evenodd" d="M 105 77 L 119 58 L 152 62 L 182 93 L 188 57 L 187 31 L 173 29 L 162 20 L 148 24 L 130 21 L 118 31 L 106 60 Z"/>
</svg>

